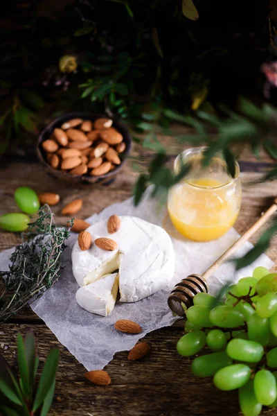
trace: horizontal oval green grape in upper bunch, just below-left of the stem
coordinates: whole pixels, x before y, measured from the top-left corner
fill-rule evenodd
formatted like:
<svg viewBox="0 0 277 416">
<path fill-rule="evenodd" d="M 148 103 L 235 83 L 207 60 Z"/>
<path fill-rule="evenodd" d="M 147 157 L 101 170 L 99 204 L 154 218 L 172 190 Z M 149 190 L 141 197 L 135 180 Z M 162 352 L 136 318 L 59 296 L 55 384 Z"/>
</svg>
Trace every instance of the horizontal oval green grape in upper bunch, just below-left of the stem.
<svg viewBox="0 0 277 416">
<path fill-rule="evenodd" d="M 217 327 L 235 328 L 244 323 L 244 315 L 230 306 L 216 306 L 211 310 L 209 318 Z"/>
</svg>

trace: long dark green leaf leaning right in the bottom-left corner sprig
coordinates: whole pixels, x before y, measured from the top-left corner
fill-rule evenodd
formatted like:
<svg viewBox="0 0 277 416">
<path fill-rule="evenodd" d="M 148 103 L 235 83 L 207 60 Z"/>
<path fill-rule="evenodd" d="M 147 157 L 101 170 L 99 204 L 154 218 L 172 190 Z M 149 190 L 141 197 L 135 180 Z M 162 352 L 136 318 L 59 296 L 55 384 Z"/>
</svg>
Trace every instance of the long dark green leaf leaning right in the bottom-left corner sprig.
<svg viewBox="0 0 277 416">
<path fill-rule="evenodd" d="M 35 395 L 35 401 L 33 403 L 33 412 L 35 412 L 42 405 L 48 391 L 51 389 L 53 381 L 55 380 L 58 363 L 59 350 L 51 349 L 51 352 L 49 352 L 48 357 L 46 358 L 44 369 L 42 370 L 42 376 L 39 380 L 37 394 Z"/>
</svg>

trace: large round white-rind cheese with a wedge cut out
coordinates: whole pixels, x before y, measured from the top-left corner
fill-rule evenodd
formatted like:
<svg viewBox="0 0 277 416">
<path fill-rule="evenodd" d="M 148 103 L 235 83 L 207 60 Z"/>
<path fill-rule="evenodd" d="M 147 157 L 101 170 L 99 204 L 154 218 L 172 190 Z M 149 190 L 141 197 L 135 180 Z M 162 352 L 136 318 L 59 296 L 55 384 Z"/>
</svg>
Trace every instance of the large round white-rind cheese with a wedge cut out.
<svg viewBox="0 0 277 416">
<path fill-rule="evenodd" d="M 95 244 L 82 251 L 76 241 L 72 250 L 73 275 L 80 286 L 101 279 L 119 269 L 120 302 L 136 302 L 165 288 L 175 270 L 175 256 L 170 236 L 141 218 L 120 217 L 120 228 L 107 232 L 107 220 L 86 229 L 92 241 L 100 237 L 113 239 L 118 249 L 113 252 Z"/>
</svg>

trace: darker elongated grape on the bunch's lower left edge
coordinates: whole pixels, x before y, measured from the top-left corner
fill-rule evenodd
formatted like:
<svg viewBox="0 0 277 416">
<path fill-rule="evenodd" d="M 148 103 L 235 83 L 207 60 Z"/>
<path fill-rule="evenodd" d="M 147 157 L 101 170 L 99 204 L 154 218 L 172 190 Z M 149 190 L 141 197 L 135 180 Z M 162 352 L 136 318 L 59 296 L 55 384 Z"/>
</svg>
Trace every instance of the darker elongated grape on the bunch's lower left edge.
<svg viewBox="0 0 277 416">
<path fill-rule="evenodd" d="M 233 363 L 226 352 L 213 352 L 193 360 L 191 370 L 197 377 L 211 377 L 221 368 Z"/>
</svg>

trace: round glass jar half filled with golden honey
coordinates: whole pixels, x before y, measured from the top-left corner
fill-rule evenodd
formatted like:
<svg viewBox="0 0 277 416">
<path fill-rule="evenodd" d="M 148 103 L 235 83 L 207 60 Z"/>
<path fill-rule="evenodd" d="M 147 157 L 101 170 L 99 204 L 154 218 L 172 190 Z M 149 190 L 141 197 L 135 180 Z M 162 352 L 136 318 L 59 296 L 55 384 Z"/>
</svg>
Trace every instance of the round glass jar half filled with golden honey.
<svg viewBox="0 0 277 416">
<path fill-rule="evenodd" d="M 228 173 L 220 153 L 203 166 L 206 147 L 184 150 L 176 159 L 175 173 L 182 164 L 191 168 L 168 194 L 168 213 L 175 228 L 194 241 L 210 241 L 223 236 L 235 223 L 240 211 L 240 167 L 235 176 Z"/>
</svg>

